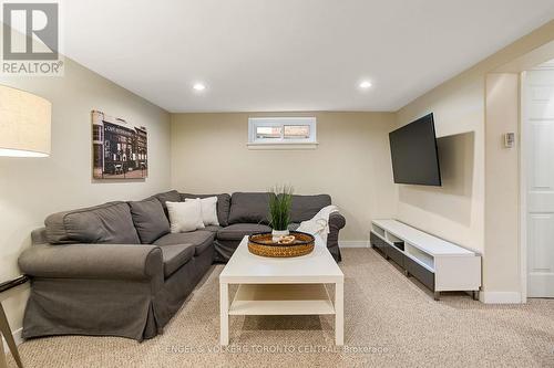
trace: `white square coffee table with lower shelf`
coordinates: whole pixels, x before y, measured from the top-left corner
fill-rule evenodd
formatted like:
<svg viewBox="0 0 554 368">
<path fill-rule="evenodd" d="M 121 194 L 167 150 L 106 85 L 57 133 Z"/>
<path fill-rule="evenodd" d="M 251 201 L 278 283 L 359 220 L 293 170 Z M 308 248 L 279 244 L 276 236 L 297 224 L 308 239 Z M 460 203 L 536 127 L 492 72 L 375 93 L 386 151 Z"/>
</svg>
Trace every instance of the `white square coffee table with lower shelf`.
<svg viewBox="0 0 554 368">
<path fill-rule="evenodd" d="M 343 345 L 345 275 L 327 248 L 290 259 L 252 254 L 245 236 L 219 275 L 220 344 L 229 344 L 229 315 L 335 315 L 335 344 Z M 229 284 L 238 291 L 229 304 Z M 326 284 L 335 284 L 335 303 Z"/>
</svg>

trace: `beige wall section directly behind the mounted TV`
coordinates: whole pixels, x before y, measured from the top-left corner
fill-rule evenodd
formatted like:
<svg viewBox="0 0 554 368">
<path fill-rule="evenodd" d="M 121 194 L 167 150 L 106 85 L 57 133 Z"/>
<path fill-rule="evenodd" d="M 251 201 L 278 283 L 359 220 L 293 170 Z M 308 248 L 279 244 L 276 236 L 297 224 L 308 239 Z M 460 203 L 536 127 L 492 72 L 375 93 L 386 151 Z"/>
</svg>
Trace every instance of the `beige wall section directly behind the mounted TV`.
<svg viewBox="0 0 554 368">
<path fill-rule="evenodd" d="M 484 91 L 480 78 L 431 93 L 397 114 L 399 125 L 434 114 L 442 187 L 400 186 L 399 220 L 483 251 Z"/>
</svg>

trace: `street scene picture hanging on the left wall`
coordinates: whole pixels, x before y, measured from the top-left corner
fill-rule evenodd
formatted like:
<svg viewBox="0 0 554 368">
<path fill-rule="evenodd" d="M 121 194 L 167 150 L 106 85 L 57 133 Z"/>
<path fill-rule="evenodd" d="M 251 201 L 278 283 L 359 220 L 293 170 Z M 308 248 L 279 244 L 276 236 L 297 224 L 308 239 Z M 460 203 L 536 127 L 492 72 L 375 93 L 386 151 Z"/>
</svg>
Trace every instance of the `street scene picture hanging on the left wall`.
<svg viewBox="0 0 554 368">
<path fill-rule="evenodd" d="M 148 176 L 147 133 L 143 126 L 92 112 L 94 179 L 143 179 Z"/>
</svg>

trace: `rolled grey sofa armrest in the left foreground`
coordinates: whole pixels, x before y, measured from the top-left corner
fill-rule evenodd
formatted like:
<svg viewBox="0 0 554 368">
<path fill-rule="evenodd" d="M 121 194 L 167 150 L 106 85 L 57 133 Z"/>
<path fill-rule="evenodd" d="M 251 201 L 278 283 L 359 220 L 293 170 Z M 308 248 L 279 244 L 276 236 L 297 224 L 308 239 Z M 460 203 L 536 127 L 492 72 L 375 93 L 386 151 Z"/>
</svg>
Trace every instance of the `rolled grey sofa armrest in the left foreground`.
<svg viewBox="0 0 554 368">
<path fill-rule="evenodd" d="M 21 271 L 51 278 L 147 281 L 163 277 L 162 250 L 138 244 L 38 244 L 19 256 Z"/>
</svg>

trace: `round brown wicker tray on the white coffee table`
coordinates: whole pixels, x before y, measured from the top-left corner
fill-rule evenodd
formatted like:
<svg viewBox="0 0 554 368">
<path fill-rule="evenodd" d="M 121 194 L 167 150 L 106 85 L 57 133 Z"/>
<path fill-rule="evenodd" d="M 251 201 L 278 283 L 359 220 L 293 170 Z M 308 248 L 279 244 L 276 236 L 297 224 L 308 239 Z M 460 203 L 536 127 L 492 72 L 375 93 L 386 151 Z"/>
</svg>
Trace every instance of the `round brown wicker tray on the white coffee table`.
<svg viewBox="0 0 554 368">
<path fill-rule="evenodd" d="M 250 253 L 271 257 L 300 256 L 314 251 L 315 238 L 299 231 L 291 231 L 295 240 L 291 243 L 274 243 L 270 232 L 252 234 L 248 236 L 248 250 Z"/>
</svg>

